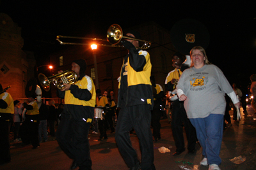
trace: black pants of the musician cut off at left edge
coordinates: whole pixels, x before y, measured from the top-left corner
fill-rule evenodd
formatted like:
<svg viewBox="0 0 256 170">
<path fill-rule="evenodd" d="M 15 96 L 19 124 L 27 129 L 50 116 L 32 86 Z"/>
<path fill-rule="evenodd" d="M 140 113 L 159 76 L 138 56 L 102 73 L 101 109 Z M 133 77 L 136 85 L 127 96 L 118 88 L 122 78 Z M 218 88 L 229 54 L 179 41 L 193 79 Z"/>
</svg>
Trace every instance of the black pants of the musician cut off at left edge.
<svg viewBox="0 0 256 170">
<path fill-rule="evenodd" d="M 10 162 L 10 133 L 11 122 L 0 119 L 0 164 Z"/>
</svg>

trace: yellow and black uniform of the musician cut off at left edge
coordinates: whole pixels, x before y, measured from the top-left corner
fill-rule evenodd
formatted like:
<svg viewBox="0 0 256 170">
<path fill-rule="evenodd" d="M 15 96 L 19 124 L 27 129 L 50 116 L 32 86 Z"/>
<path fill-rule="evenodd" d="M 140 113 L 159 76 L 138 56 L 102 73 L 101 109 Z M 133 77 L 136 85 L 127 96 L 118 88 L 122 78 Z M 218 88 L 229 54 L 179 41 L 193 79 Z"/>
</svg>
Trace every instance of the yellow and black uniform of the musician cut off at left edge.
<svg viewBox="0 0 256 170">
<path fill-rule="evenodd" d="M 14 104 L 12 96 L 8 92 L 0 94 L 0 164 L 10 162 L 10 127 Z"/>
</svg>

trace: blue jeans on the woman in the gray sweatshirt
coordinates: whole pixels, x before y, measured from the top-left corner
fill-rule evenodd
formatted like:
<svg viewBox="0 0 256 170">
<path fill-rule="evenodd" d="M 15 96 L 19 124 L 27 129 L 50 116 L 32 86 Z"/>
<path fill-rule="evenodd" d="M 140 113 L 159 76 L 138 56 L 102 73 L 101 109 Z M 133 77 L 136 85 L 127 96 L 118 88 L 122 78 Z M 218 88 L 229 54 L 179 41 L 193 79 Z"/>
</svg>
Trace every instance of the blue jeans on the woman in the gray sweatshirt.
<svg viewBox="0 0 256 170">
<path fill-rule="evenodd" d="M 220 165 L 220 149 L 223 135 L 223 115 L 210 114 L 205 118 L 190 118 L 196 129 L 196 136 L 203 148 L 202 155 L 209 165 Z"/>
</svg>

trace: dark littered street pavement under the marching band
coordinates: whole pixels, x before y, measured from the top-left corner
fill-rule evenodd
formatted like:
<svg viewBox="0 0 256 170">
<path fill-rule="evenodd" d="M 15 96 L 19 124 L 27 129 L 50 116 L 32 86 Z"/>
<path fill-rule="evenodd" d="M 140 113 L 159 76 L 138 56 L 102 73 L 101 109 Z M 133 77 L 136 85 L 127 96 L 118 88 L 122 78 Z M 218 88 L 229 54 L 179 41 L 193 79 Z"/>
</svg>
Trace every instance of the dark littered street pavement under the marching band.
<svg viewBox="0 0 256 170">
<path fill-rule="evenodd" d="M 221 145 L 221 165 L 220 169 L 256 169 L 256 115 L 250 105 L 247 113 L 241 110 L 241 121 L 232 120 L 232 125 L 223 132 L 223 141 Z M 232 110 L 230 110 L 232 117 Z M 108 139 L 98 141 L 99 134 L 92 134 L 90 131 L 89 141 L 92 157 L 93 170 L 109 169 L 129 169 L 122 159 L 115 143 L 115 133 L 110 134 Z M 184 133 L 186 141 L 186 134 Z M 140 146 L 136 134 L 131 134 L 132 146 L 141 159 Z M 170 152 L 160 153 L 158 148 L 168 148 Z M 208 166 L 200 166 L 202 157 L 202 148 L 196 143 L 196 153 L 188 154 L 188 150 L 182 154 L 173 157 L 175 144 L 172 137 L 171 125 L 167 119 L 161 120 L 161 139 L 154 143 L 154 164 L 156 169 L 201 169 L 207 170 Z M 241 156 L 241 162 L 235 164 L 231 159 Z M 40 143 L 40 147 L 32 149 L 31 145 L 23 145 L 21 142 L 11 143 L 12 160 L 8 164 L 3 164 L 0 169 L 69 169 L 72 164 L 65 153 L 63 153 L 57 141 L 49 136 L 49 141 Z M 77 167 L 78 169 L 78 167 Z"/>
</svg>

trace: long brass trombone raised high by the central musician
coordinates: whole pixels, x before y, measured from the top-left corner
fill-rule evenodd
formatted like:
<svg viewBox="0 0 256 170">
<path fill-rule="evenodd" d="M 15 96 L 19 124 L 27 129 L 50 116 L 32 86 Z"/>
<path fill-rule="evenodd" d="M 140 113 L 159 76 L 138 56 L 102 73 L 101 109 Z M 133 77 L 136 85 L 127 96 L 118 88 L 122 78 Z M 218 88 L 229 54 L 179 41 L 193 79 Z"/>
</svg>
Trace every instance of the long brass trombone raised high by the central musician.
<svg viewBox="0 0 256 170">
<path fill-rule="evenodd" d="M 100 39 L 100 38 L 83 38 L 83 37 L 76 37 L 76 36 L 57 36 L 56 40 L 60 42 L 61 45 L 90 45 L 88 43 L 72 43 L 72 42 L 63 42 L 60 40 L 60 38 L 69 38 L 69 39 L 89 39 L 92 41 L 108 41 L 111 45 L 106 45 L 106 44 L 97 44 L 100 46 L 111 46 L 111 47 L 124 47 L 122 45 L 117 45 L 120 43 L 120 41 L 123 39 L 132 39 L 134 41 L 142 41 L 143 45 L 138 47 L 141 50 L 148 49 L 151 45 L 150 41 L 145 41 L 141 39 L 136 39 L 132 38 L 129 36 L 123 36 L 123 31 L 120 25 L 118 24 L 113 24 L 108 28 L 107 32 L 107 38 L 106 39 Z"/>
</svg>

